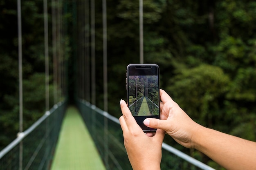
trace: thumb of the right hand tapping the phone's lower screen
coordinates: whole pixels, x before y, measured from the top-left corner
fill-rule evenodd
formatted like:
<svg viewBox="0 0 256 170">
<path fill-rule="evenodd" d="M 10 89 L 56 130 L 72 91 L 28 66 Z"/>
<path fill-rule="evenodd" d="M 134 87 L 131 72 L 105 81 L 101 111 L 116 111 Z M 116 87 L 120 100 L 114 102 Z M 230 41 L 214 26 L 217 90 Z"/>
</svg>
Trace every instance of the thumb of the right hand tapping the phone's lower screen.
<svg viewBox="0 0 256 170">
<path fill-rule="evenodd" d="M 162 129 L 166 131 L 168 129 L 168 121 L 167 120 L 160 120 L 154 118 L 147 118 L 143 121 L 144 125 L 155 128 L 155 129 Z"/>
</svg>

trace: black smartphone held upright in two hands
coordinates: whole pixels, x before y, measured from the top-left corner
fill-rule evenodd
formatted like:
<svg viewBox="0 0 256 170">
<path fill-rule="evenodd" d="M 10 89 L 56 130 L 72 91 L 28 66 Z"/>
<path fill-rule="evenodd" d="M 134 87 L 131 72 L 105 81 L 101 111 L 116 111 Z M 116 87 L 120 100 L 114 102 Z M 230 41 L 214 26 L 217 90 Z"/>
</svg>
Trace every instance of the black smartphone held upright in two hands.
<svg viewBox="0 0 256 170">
<path fill-rule="evenodd" d="M 146 118 L 160 119 L 159 67 L 156 64 L 129 64 L 126 71 L 127 104 L 144 132 L 155 132 L 143 124 Z"/>
</svg>

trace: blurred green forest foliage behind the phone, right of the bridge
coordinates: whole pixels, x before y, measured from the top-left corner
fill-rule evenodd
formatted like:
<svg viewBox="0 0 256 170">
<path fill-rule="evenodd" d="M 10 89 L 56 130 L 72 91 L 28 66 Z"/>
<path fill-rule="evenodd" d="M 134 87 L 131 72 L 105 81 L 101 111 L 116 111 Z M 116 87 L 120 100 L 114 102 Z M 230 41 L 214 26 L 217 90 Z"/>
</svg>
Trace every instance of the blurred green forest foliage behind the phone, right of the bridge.
<svg viewBox="0 0 256 170">
<path fill-rule="evenodd" d="M 119 26 L 108 26 L 108 49 L 120 51 L 108 53 L 109 112 L 117 117 L 118 99 L 126 98 L 125 67 L 139 62 L 138 5 L 108 6 L 109 21 Z M 256 141 L 256 3 L 144 0 L 144 12 L 144 61 L 160 66 L 160 87 L 198 123 Z"/>
</svg>

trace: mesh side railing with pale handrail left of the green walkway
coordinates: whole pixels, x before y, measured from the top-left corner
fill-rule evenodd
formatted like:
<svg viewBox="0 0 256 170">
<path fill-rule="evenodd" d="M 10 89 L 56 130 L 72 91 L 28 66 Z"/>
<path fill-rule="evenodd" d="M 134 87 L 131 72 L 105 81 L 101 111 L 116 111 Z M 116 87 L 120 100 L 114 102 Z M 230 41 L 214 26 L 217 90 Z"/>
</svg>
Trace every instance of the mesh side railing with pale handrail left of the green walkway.
<svg viewBox="0 0 256 170">
<path fill-rule="evenodd" d="M 47 170 L 56 146 L 66 102 L 54 105 L 0 152 L 0 170 Z"/>
</svg>

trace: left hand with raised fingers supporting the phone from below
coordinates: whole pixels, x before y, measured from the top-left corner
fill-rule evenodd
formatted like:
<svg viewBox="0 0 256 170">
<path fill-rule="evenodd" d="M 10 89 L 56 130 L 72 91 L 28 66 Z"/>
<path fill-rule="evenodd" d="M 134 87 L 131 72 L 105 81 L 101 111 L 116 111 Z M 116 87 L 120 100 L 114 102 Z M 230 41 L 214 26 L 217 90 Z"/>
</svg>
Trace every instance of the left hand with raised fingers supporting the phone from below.
<svg viewBox="0 0 256 170">
<path fill-rule="evenodd" d="M 123 116 L 119 118 L 119 121 L 132 169 L 159 170 L 165 132 L 157 129 L 154 136 L 151 136 L 151 133 L 146 135 L 135 121 L 124 100 L 120 101 L 120 107 Z"/>
</svg>

